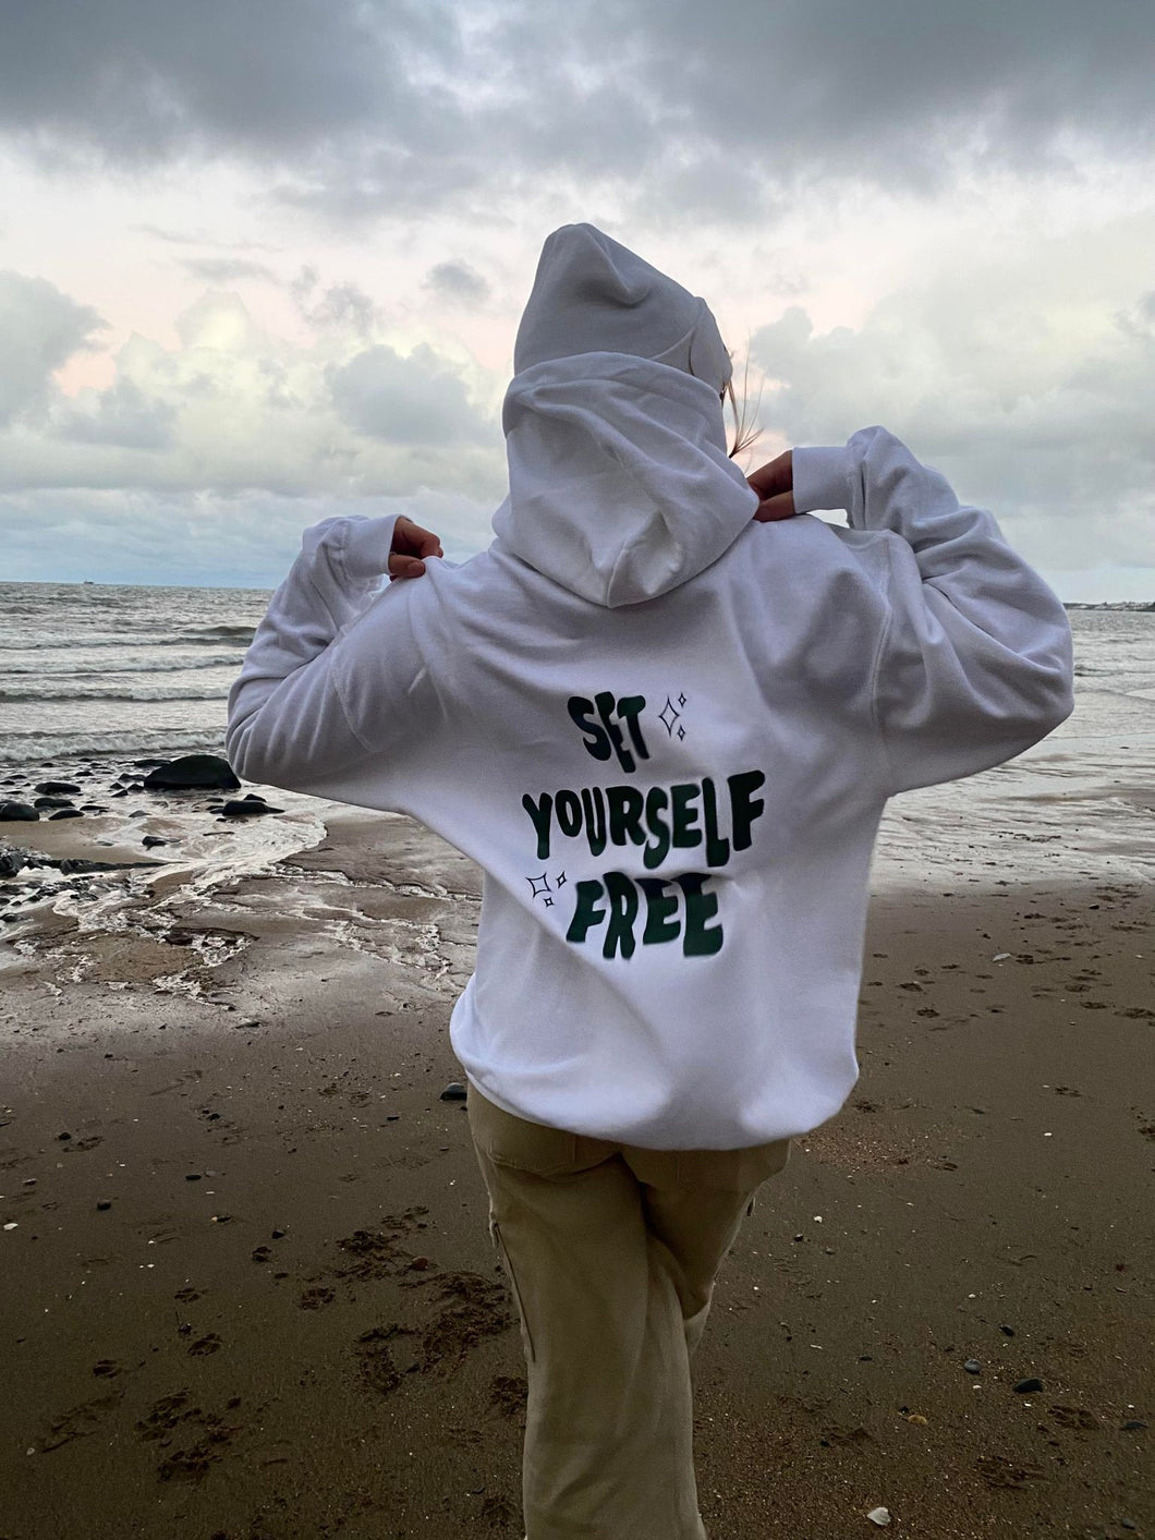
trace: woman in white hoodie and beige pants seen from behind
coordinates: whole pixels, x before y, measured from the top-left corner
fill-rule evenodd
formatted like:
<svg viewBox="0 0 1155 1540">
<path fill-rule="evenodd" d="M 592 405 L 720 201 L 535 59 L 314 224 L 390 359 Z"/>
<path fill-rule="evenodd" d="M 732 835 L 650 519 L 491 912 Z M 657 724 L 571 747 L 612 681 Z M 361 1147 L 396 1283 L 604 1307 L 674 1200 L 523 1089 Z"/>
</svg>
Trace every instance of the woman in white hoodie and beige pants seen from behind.
<svg viewBox="0 0 1155 1540">
<path fill-rule="evenodd" d="M 588 225 L 545 242 L 514 367 L 490 548 L 308 530 L 228 756 L 484 869 L 450 1033 L 522 1321 L 528 1540 L 701 1540 L 690 1355 L 756 1189 L 855 1083 L 882 807 L 1056 727 L 1070 631 L 882 428 L 747 482 L 713 316 Z"/>
</svg>

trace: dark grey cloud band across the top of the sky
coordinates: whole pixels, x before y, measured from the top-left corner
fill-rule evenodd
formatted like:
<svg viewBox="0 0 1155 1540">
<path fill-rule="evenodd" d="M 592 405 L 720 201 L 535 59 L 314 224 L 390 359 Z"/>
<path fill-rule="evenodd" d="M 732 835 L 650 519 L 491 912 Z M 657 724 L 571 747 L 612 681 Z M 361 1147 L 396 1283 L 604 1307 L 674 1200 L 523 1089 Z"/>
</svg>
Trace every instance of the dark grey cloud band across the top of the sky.
<svg viewBox="0 0 1155 1540">
<path fill-rule="evenodd" d="M 6 14 L 0 132 L 72 165 L 231 156 L 343 220 L 542 179 L 741 220 L 815 177 L 1149 154 L 1153 51 L 1140 0 L 42 0 Z"/>
</svg>

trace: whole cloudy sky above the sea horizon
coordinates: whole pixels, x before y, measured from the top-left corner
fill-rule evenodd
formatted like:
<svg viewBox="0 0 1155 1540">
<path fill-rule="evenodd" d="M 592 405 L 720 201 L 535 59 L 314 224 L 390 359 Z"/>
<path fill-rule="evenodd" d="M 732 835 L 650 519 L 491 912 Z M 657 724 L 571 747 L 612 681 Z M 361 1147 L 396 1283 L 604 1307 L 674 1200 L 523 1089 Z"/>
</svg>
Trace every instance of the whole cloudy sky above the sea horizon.
<svg viewBox="0 0 1155 1540">
<path fill-rule="evenodd" d="M 704 294 L 753 464 L 881 422 L 1064 599 L 1155 599 L 1155 6 L 0 11 L 0 578 L 464 557 L 542 237 Z"/>
</svg>

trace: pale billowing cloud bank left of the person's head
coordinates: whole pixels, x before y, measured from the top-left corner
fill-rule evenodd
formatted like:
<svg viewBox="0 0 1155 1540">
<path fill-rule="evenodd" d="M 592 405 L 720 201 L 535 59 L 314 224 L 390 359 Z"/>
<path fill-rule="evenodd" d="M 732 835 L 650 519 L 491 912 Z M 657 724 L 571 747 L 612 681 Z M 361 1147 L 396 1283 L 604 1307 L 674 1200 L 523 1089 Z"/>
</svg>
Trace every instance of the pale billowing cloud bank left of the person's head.
<svg viewBox="0 0 1155 1540">
<path fill-rule="evenodd" d="M 340 308 L 336 293 L 320 291 L 322 310 Z M 94 325 L 51 283 L 0 276 L 0 491 L 504 494 L 500 427 L 474 403 L 491 382 L 473 368 L 467 388 L 427 345 L 367 346 L 356 325 L 291 342 L 237 294 L 208 293 L 177 317 L 179 346 L 134 334 L 111 385 L 66 397 L 51 371 Z"/>
</svg>

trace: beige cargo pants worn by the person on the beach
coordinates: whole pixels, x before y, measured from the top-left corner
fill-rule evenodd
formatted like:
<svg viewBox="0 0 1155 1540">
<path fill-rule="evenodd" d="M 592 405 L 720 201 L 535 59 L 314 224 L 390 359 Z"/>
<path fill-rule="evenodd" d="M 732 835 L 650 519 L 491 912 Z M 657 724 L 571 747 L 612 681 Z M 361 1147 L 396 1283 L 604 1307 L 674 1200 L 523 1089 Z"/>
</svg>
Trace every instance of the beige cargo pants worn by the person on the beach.
<svg viewBox="0 0 1155 1540">
<path fill-rule="evenodd" d="M 527 1540 L 705 1540 L 690 1357 L 790 1141 L 648 1150 L 527 1123 L 470 1083 L 528 1377 Z"/>
</svg>

